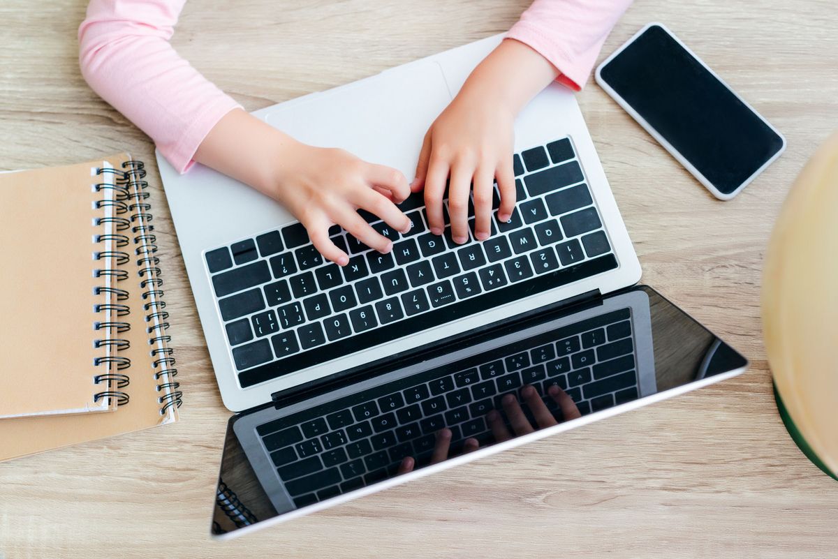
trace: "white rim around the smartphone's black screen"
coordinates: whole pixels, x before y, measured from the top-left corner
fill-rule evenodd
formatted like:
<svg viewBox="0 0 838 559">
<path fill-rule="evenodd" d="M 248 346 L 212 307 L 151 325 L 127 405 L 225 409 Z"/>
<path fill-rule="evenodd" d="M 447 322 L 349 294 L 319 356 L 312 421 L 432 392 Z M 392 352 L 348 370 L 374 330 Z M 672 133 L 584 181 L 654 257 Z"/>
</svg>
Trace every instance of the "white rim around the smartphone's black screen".
<svg viewBox="0 0 838 559">
<path fill-rule="evenodd" d="M 759 117 L 759 119 L 761 121 L 763 121 L 766 124 L 766 126 L 768 126 L 768 128 L 770 128 L 774 133 L 776 133 L 777 136 L 779 136 L 781 141 L 783 141 L 783 145 L 780 146 L 780 149 L 777 151 L 777 153 L 775 153 L 773 156 L 769 157 L 768 160 L 765 163 L 763 163 L 762 167 L 759 167 L 755 172 L 753 172 L 753 175 L 751 175 L 750 177 L 747 177 L 747 179 L 745 179 L 742 182 L 742 184 L 740 184 L 738 187 L 736 187 L 736 189 L 733 190 L 732 192 L 729 192 L 729 193 L 725 194 L 723 192 L 720 192 L 715 186 L 713 186 L 712 182 L 707 180 L 707 177 L 702 175 L 701 172 L 699 172 L 698 169 L 696 169 L 696 167 L 693 167 L 691 162 L 687 161 L 687 159 L 680 154 L 680 151 L 676 150 L 675 147 L 673 147 L 670 144 L 670 142 L 666 141 L 665 138 L 663 136 L 661 136 L 658 133 L 658 131 L 656 131 L 654 129 L 654 127 L 649 124 L 649 122 L 647 122 L 642 116 L 640 116 L 638 114 L 638 112 L 636 110 L 634 110 L 634 108 L 631 105 L 629 105 L 629 103 L 627 103 L 626 100 L 624 100 L 616 91 L 614 91 L 613 88 L 610 85 L 608 85 L 608 82 L 606 82 L 603 79 L 603 76 L 601 74 L 602 70 L 603 70 L 603 67 L 606 64 L 608 64 L 609 62 L 611 62 L 611 60 L 616 58 L 618 56 L 618 54 L 622 53 L 623 50 L 626 49 L 626 47 L 629 46 L 629 44 L 634 43 L 634 40 L 636 38 L 638 38 L 647 29 L 649 29 L 650 27 L 653 27 L 653 26 L 657 26 L 657 27 L 662 28 L 666 33 L 668 33 L 670 35 L 670 37 L 674 38 L 675 41 L 678 42 L 678 44 L 680 44 L 682 47 L 684 47 L 684 49 L 687 51 L 687 53 L 689 53 L 694 59 L 696 59 L 699 64 L 704 66 L 707 69 L 707 71 L 710 72 L 710 74 L 712 74 L 716 79 L 718 79 L 720 82 L 722 82 L 722 85 L 724 85 L 727 88 L 727 90 L 729 90 L 733 95 L 735 95 L 738 100 L 742 101 L 743 105 L 747 106 L 747 108 L 749 110 L 751 110 L 754 115 L 757 115 Z M 634 121 L 637 121 L 637 123 L 640 126 L 643 126 L 644 130 L 649 132 L 649 134 L 652 137 L 654 137 L 654 139 L 656 141 L 658 141 L 658 143 L 661 146 L 663 146 L 666 151 L 669 151 L 670 155 L 675 157 L 676 161 L 678 161 L 687 171 L 689 171 L 693 177 L 696 177 L 698 182 L 701 182 L 701 184 L 703 184 L 706 187 L 706 189 L 711 192 L 711 194 L 713 196 L 717 197 L 720 200 L 730 200 L 732 197 L 735 197 L 739 192 L 742 192 L 742 189 L 744 187 L 747 187 L 747 185 L 750 184 L 753 181 L 753 179 L 758 177 L 758 175 L 761 172 L 763 172 L 769 165 L 771 165 L 771 163 L 774 162 L 774 160 L 776 160 L 785 151 L 785 148 L 786 148 L 785 136 L 783 136 L 776 128 L 774 128 L 771 125 L 771 123 L 768 122 L 768 120 L 766 120 L 766 118 L 763 115 L 760 115 L 758 113 L 758 111 L 753 108 L 753 106 L 751 106 L 746 100 L 742 99 L 741 95 L 737 94 L 737 92 L 735 90 L 733 90 L 733 88 L 730 85 L 727 85 L 727 82 L 724 79 L 722 79 L 718 74 L 716 74 L 716 72 L 714 72 L 713 69 L 711 69 L 711 67 L 708 66 L 704 62 L 704 60 L 699 58 L 699 56 L 696 53 L 692 52 L 692 50 L 688 46 L 686 46 L 680 40 L 680 38 L 678 38 L 675 35 L 675 33 L 672 33 L 670 31 L 670 29 L 667 28 L 663 23 L 659 23 L 659 22 L 646 23 L 643 26 L 643 28 L 641 28 L 637 33 L 634 33 L 634 35 L 632 35 L 632 37 L 629 38 L 628 41 L 626 41 L 625 43 L 620 45 L 620 47 L 617 50 L 615 50 L 612 54 L 610 54 L 608 56 L 607 59 L 603 60 L 603 62 L 597 66 L 597 70 L 594 73 L 594 79 L 597 80 L 597 84 L 600 87 L 602 87 L 603 90 L 605 90 L 605 92 L 613 100 L 617 101 L 618 105 L 623 107 L 623 110 L 625 110 L 627 113 L 629 113 L 629 115 L 631 115 L 631 117 L 634 119 Z"/>
</svg>

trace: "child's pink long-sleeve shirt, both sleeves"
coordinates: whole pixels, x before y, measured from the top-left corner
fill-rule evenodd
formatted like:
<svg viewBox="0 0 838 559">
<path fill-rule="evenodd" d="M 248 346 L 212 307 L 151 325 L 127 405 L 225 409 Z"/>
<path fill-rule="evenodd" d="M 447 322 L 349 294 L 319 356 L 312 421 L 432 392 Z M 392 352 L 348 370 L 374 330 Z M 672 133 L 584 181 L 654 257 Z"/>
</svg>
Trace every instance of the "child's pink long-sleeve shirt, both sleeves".
<svg viewBox="0 0 838 559">
<path fill-rule="evenodd" d="M 580 90 L 614 23 L 632 0 L 535 0 L 510 29 Z M 185 172 L 213 126 L 241 107 L 174 51 L 186 0 L 91 0 L 79 28 L 81 73 L 102 99 L 151 136 Z M 125 69 L 130 68 L 130 72 Z"/>
</svg>

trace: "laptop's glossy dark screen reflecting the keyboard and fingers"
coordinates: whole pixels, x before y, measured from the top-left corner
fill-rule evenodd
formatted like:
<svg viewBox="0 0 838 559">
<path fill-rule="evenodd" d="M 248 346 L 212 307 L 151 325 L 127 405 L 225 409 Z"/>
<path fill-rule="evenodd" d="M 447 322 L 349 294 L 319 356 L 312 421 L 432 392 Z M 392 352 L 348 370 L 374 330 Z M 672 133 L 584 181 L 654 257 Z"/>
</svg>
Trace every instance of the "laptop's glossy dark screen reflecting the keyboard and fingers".
<svg viewBox="0 0 838 559">
<path fill-rule="evenodd" d="M 212 533 L 339 505 L 746 366 L 646 286 L 437 341 L 340 386 L 231 418 Z"/>
</svg>

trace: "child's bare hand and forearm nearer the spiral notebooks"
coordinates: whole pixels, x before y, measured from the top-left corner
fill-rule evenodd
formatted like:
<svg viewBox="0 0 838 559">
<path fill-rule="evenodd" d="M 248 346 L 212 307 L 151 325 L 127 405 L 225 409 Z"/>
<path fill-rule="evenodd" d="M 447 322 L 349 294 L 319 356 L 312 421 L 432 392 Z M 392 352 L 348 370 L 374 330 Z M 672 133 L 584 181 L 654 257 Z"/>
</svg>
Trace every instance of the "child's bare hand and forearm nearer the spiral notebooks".
<svg viewBox="0 0 838 559">
<path fill-rule="evenodd" d="M 347 151 L 300 143 L 243 110 L 225 115 L 201 142 L 194 159 L 282 203 L 303 223 L 320 254 L 342 266 L 349 255 L 328 237 L 334 224 L 380 252 L 393 246 L 360 217 L 358 208 L 398 231 L 411 226 L 396 208 L 410 194 L 401 172 L 363 162 Z"/>
</svg>

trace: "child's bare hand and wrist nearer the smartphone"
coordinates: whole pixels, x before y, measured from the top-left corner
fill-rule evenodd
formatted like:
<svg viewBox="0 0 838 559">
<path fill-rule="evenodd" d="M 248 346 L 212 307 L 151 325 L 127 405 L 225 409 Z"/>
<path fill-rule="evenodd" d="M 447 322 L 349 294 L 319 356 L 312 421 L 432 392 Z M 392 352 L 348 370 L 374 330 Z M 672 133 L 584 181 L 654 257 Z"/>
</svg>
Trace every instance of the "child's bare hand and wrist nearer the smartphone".
<svg viewBox="0 0 838 559">
<path fill-rule="evenodd" d="M 414 192 L 425 188 L 432 233 L 441 234 L 445 227 L 442 198 L 446 181 L 454 242 L 468 240 L 468 194 L 472 190 L 474 237 L 489 237 L 493 179 L 500 191 L 498 218 L 510 218 L 515 208 L 515 115 L 557 75 L 558 70 L 541 54 L 507 39 L 468 76 L 457 97 L 427 131 L 416 180 L 411 184 Z"/>
</svg>

